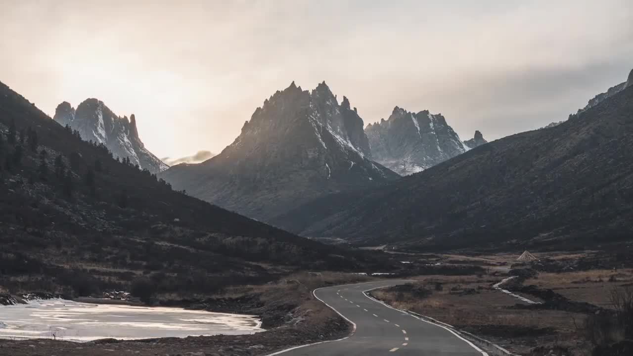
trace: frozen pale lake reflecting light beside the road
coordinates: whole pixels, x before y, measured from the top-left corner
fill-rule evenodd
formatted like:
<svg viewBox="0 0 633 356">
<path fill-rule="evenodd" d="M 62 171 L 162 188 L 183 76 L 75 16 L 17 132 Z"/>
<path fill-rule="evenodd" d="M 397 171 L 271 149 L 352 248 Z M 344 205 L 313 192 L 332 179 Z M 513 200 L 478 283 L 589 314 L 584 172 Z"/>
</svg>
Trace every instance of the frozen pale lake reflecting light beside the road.
<svg viewBox="0 0 633 356">
<path fill-rule="evenodd" d="M 70 300 L 35 300 L 0 306 L 0 338 L 91 341 L 145 339 L 262 331 L 252 315 L 163 307 L 99 305 Z"/>
</svg>

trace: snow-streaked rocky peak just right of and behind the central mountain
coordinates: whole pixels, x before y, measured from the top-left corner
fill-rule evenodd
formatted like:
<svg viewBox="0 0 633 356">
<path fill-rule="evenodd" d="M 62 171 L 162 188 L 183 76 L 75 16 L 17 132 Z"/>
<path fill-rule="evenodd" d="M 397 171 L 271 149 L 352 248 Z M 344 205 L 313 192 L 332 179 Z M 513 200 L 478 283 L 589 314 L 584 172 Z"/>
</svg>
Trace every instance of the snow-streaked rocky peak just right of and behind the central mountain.
<svg viewBox="0 0 633 356">
<path fill-rule="evenodd" d="M 412 113 L 396 106 L 387 120 L 367 125 L 365 133 L 373 159 L 401 175 L 420 172 L 470 149 L 446 118 L 429 110 Z"/>
</svg>

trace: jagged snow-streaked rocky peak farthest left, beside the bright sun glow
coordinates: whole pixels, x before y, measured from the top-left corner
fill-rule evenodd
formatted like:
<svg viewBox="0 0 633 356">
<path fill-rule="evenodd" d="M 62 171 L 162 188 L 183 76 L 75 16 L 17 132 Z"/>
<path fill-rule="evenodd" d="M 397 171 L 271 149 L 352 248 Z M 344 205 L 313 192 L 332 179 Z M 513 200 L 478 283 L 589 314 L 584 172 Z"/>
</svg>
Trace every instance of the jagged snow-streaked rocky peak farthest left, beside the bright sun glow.
<svg viewBox="0 0 633 356">
<path fill-rule="evenodd" d="M 169 168 L 148 151 L 139 137 L 134 114 L 128 119 L 113 113 L 103 101 L 86 99 L 77 110 L 64 101 L 57 106 L 53 119 L 78 130 L 82 139 L 105 144 L 113 156 L 130 158 L 130 162 L 152 173 Z"/>
</svg>

